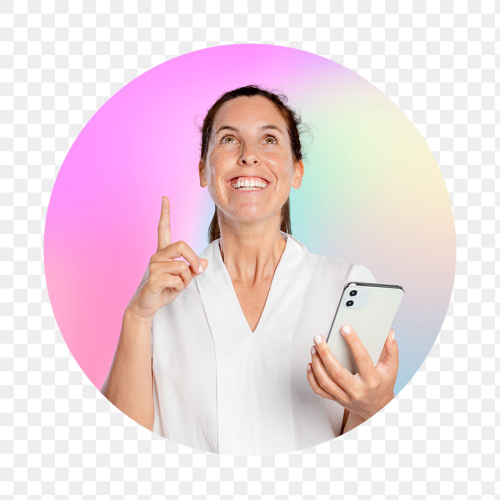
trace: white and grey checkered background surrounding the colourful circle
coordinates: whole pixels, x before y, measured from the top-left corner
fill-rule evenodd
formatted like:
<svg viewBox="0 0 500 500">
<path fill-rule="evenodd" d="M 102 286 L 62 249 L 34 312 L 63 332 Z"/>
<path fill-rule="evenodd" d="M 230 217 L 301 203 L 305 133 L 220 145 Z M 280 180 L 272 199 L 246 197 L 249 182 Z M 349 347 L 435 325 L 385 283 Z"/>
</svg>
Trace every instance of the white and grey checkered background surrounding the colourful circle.
<svg viewBox="0 0 500 500">
<path fill-rule="evenodd" d="M 68 3 L 0 1 L 1 498 L 498 493 L 495 2 Z M 166 59 L 246 41 L 331 58 L 393 99 L 440 165 L 457 233 L 447 316 L 411 382 L 345 436 L 266 457 L 197 452 L 112 406 L 68 351 L 43 272 L 50 192 L 95 111 Z"/>
</svg>

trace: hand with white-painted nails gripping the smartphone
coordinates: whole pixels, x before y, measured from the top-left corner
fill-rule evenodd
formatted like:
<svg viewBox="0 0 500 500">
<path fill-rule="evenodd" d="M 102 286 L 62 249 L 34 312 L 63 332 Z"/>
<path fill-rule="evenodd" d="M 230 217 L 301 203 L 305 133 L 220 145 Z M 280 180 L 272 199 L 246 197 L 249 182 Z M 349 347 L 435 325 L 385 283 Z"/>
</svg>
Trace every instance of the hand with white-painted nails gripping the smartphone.
<svg viewBox="0 0 500 500">
<path fill-rule="evenodd" d="M 347 342 L 358 372 L 352 374 L 332 354 L 322 335 L 314 335 L 311 363 L 307 364 L 307 380 L 312 390 L 333 399 L 362 420 L 367 420 L 394 397 L 394 384 L 399 357 L 397 343 L 390 330 L 376 366 L 356 332 L 340 329 Z M 309 366 L 312 366 L 310 368 Z"/>
</svg>

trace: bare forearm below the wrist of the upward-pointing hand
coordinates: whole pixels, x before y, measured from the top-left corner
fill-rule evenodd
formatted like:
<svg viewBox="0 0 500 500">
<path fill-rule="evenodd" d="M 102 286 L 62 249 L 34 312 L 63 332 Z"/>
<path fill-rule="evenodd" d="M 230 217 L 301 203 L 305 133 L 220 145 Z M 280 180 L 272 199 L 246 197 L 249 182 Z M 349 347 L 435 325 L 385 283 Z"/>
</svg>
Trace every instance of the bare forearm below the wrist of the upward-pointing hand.
<svg viewBox="0 0 500 500">
<path fill-rule="evenodd" d="M 149 430 L 154 416 L 151 326 L 152 318 L 125 309 L 113 362 L 101 388 L 111 403 Z"/>
</svg>

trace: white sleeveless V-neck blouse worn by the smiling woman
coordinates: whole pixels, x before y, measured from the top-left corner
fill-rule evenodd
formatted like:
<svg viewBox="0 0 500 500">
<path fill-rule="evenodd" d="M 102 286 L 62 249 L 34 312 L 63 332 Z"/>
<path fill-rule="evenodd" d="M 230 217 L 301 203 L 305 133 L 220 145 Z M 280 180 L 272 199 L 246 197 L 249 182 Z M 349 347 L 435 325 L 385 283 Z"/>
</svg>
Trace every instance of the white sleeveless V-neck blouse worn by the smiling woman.
<svg viewBox="0 0 500 500">
<path fill-rule="evenodd" d="M 286 244 L 264 309 L 251 331 L 220 255 L 151 329 L 153 432 L 213 453 L 287 453 L 340 434 L 344 408 L 315 394 L 306 377 L 312 337 L 326 337 L 343 286 L 375 282 L 362 264 Z"/>
</svg>

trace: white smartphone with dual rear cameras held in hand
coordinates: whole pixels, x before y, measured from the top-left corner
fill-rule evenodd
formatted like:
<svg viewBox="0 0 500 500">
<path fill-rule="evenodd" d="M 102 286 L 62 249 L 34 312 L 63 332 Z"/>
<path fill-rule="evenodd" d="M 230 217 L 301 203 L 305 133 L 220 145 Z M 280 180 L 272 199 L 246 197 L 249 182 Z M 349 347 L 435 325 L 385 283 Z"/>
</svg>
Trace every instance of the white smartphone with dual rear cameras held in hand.
<svg viewBox="0 0 500 500">
<path fill-rule="evenodd" d="M 360 281 L 345 284 L 331 320 L 326 343 L 333 355 L 352 374 L 357 373 L 358 367 L 340 328 L 344 324 L 350 324 L 354 328 L 376 365 L 403 293 L 403 287 L 397 284 Z"/>
</svg>

